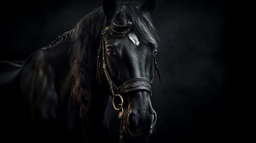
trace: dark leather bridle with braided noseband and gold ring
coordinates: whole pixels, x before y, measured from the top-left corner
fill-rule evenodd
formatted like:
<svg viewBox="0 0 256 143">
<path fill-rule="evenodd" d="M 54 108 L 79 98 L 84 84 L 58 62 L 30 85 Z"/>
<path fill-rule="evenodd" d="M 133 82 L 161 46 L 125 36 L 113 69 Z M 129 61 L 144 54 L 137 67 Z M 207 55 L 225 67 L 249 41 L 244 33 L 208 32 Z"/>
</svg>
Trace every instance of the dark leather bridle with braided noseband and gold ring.
<svg viewBox="0 0 256 143">
<path fill-rule="evenodd" d="M 119 118 L 121 118 L 123 116 L 123 98 L 120 94 L 135 91 L 135 90 L 141 90 L 141 89 L 146 90 L 150 94 L 152 94 L 151 93 L 151 85 L 152 85 L 154 76 L 151 80 L 149 78 L 146 78 L 146 77 L 132 78 L 132 79 L 129 79 L 129 80 L 125 81 L 123 84 L 121 84 L 119 87 L 117 87 L 115 85 L 114 81 L 112 80 L 110 74 L 109 74 L 109 71 L 107 69 L 106 60 L 105 60 L 105 58 L 106 58 L 105 57 L 105 44 L 104 44 L 103 36 L 108 31 L 110 31 L 109 26 L 103 28 L 103 30 L 102 30 L 101 43 L 100 43 L 100 46 L 99 46 L 99 49 L 98 49 L 98 61 L 97 61 L 97 75 L 96 75 L 96 78 L 100 79 L 99 78 L 99 75 L 100 75 L 99 72 L 100 72 L 101 57 L 102 57 L 103 70 L 104 70 L 105 76 L 107 78 L 107 81 L 110 85 L 110 90 L 111 90 L 111 93 L 112 93 L 112 96 L 113 96 L 112 103 L 113 103 L 114 109 L 120 111 L 119 112 Z M 161 80 L 158 65 L 157 65 L 156 59 L 155 59 L 155 55 L 153 57 L 153 61 L 154 61 L 154 65 L 155 65 L 155 70 L 158 71 L 158 76 L 159 76 L 159 79 Z M 153 73 L 153 75 L 154 75 L 154 73 Z M 120 98 L 120 100 L 121 100 L 121 103 L 117 107 L 114 104 L 114 100 L 115 100 L 116 97 Z"/>
</svg>

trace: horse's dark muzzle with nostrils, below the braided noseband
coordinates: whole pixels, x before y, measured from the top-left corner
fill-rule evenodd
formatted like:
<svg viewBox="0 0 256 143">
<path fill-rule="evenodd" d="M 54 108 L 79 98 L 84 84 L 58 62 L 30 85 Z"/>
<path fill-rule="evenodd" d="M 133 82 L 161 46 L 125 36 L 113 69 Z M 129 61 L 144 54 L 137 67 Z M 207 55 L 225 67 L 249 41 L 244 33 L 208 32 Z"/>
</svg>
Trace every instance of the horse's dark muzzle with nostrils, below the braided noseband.
<svg viewBox="0 0 256 143">
<path fill-rule="evenodd" d="M 156 122 L 156 113 L 147 91 L 135 91 L 128 95 L 126 127 L 131 136 L 149 136 Z"/>
</svg>

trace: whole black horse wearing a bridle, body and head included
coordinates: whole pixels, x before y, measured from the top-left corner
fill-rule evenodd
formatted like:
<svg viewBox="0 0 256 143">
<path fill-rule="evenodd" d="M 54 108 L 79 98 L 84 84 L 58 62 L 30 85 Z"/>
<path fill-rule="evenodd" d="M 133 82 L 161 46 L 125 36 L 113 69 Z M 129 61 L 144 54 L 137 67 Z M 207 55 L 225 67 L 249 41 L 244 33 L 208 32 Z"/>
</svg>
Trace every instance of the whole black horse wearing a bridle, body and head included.
<svg viewBox="0 0 256 143">
<path fill-rule="evenodd" d="M 155 0 L 142 6 L 104 0 L 25 61 L 0 62 L 2 129 L 9 140 L 111 142 L 104 122 L 110 95 L 121 118 L 120 140 L 146 140 L 156 122 L 154 7 Z"/>
</svg>

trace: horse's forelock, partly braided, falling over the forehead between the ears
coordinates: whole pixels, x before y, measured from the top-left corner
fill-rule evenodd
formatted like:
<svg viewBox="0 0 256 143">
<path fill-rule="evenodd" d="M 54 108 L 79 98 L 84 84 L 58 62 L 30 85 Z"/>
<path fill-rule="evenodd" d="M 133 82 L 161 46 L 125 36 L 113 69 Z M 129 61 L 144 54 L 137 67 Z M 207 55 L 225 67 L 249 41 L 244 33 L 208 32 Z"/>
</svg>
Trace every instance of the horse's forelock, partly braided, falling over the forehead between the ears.
<svg viewBox="0 0 256 143">
<path fill-rule="evenodd" d="M 160 38 L 151 20 L 151 14 L 142 11 L 136 2 L 118 2 L 110 22 L 110 33 L 120 37 L 129 31 L 135 32 L 140 39 L 151 45 L 158 46 Z"/>
</svg>

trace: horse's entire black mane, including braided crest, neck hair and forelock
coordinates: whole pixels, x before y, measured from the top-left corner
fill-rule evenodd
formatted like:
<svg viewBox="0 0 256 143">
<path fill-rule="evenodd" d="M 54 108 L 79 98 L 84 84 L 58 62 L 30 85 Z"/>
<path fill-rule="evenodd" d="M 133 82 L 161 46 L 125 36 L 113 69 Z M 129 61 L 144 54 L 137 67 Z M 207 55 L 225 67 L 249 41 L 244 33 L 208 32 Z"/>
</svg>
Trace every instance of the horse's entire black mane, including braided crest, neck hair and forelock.
<svg viewBox="0 0 256 143">
<path fill-rule="evenodd" d="M 80 116 L 85 116 L 91 100 L 91 85 L 96 76 L 96 54 L 101 38 L 101 30 L 107 25 L 126 25 L 131 22 L 130 30 L 149 44 L 157 47 L 160 40 L 151 22 L 151 14 L 140 9 L 135 2 L 117 2 L 115 14 L 106 23 L 103 7 L 94 9 L 83 17 L 73 30 L 57 37 L 49 46 L 58 40 L 71 36 L 73 48 L 70 49 L 70 67 L 73 76 L 72 96 L 80 107 Z"/>
</svg>

